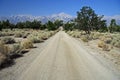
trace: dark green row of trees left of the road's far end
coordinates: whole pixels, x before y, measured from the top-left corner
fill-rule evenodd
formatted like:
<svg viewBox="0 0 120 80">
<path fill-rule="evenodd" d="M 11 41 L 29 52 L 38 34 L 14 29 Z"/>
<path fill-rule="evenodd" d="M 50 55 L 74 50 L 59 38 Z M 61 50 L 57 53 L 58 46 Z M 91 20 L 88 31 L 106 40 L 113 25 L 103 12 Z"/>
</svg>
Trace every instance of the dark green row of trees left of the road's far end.
<svg viewBox="0 0 120 80">
<path fill-rule="evenodd" d="M 17 24 L 12 24 L 9 22 L 9 20 L 6 21 L 0 21 L 0 30 L 2 29 L 14 29 L 14 28 L 19 28 L 19 29 L 48 29 L 48 30 L 56 30 L 59 28 L 59 26 L 63 25 L 62 20 L 55 20 L 54 22 L 48 21 L 45 24 L 42 24 L 41 21 L 26 21 L 26 22 L 18 22 Z"/>
</svg>

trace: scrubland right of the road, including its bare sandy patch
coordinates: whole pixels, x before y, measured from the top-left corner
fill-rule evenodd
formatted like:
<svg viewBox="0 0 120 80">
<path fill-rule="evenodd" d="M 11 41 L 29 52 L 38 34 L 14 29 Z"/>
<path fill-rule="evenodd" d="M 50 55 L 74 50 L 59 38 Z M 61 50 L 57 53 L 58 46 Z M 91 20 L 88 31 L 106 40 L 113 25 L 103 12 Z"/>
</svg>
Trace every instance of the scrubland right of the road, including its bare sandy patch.
<svg viewBox="0 0 120 80">
<path fill-rule="evenodd" d="M 67 33 L 87 43 L 94 50 L 100 51 L 104 57 L 109 56 L 109 59 L 120 69 L 120 33 L 91 32 L 88 35 L 78 30 L 67 31 Z"/>
</svg>

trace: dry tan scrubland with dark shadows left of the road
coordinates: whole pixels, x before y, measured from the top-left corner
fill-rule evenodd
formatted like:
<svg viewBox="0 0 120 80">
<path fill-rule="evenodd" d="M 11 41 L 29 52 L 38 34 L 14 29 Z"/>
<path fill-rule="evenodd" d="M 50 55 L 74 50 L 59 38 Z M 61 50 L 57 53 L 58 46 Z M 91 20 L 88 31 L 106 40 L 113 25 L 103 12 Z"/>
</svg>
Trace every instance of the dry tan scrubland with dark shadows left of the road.
<svg viewBox="0 0 120 80">
<path fill-rule="evenodd" d="M 0 68 L 7 67 L 9 61 L 21 57 L 24 52 L 48 39 L 57 31 L 42 31 L 33 29 L 4 29 L 0 32 Z"/>
</svg>

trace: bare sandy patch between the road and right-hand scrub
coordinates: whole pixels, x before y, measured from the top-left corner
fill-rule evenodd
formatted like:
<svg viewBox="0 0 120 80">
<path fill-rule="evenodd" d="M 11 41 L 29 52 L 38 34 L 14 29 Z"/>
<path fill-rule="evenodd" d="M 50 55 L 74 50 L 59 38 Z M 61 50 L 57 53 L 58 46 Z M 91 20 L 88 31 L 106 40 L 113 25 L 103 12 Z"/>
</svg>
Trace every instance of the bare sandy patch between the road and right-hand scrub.
<svg viewBox="0 0 120 80">
<path fill-rule="evenodd" d="M 98 47 L 98 42 L 99 40 L 89 41 L 87 43 L 87 47 L 96 51 L 104 58 L 108 59 L 111 64 L 113 64 L 115 68 L 120 71 L 120 49 L 113 47 L 112 49 L 110 49 L 110 51 L 103 51 L 101 48 Z"/>
</svg>

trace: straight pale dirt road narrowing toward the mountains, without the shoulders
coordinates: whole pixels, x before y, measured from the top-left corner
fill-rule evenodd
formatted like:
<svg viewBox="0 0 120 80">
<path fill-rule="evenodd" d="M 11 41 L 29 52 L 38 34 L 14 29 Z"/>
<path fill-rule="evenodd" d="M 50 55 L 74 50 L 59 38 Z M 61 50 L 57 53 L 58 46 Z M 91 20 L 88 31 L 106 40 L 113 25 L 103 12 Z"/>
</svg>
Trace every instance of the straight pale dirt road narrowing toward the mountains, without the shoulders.
<svg viewBox="0 0 120 80">
<path fill-rule="evenodd" d="M 34 53 L 33 53 L 34 54 Z M 58 32 L 18 80 L 120 80 L 79 41 Z"/>
</svg>

